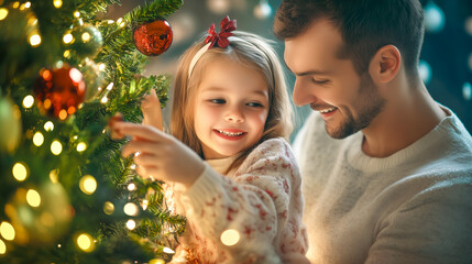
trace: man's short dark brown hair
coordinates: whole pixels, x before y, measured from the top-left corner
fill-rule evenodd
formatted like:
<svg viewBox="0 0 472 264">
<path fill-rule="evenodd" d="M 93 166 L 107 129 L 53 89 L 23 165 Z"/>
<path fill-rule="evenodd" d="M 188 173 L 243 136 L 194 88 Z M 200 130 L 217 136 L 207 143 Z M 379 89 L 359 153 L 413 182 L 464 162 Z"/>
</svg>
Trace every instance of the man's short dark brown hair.
<svg viewBox="0 0 472 264">
<path fill-rule="evenodd" d="M 394 45 L 406 72 L 418 77 L 425 34 L 419 0 L 284 0 L 275 15 L 274 33 L 281 40 L 289 40 L 319 19 L 339 29 L 344 41 L 340 57 L 352 59 L 358 74 L 369 69 L 381 47 Z"/>
</svg>

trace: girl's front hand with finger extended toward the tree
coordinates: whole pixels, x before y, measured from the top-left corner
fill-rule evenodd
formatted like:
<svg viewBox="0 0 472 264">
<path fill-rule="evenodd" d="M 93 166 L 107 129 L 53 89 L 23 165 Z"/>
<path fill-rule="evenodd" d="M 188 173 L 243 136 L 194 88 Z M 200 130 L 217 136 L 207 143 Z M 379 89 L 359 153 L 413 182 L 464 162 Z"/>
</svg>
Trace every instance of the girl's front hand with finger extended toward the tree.
<svg viewBox="0 0 472 264">
<path fill-rule="evenodd" d="M 189 188 L 205 169 L 204 161 L 194 151 L 153 127 L 116 122 L 112 130 L 131 136 L 122 155 L 134 155 L 136 173 L 144 178 L 179 183 Z"/>
</svg>

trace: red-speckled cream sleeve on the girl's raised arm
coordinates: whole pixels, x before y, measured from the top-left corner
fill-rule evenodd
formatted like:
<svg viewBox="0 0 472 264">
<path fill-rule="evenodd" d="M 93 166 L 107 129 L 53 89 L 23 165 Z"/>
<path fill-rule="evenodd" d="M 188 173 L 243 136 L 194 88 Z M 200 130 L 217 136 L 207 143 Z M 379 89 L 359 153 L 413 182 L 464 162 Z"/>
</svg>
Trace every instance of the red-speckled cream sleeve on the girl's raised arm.
<svg viewBox="0 0 472 264">
<path fill-rule="evenodd" d="M 194 186 L 180 194 L 180 205 L 193 226 L 221 251 L 237 257 L 235 263 L 246 260 L 279 263 L 279 246 L 292 249 L 293 241 L 303 240 L 299 234 L 303 200 L 296 205 L 299 215 L 295 219 L 298 220 L 290 222 L 290 227 L 298 230 L 285 233 L 292 196 L 300 196 L 294 191 L 294 183 L 299 180 L 298 170 L 294 174 L 294 168 L 298 169 L 294 163 L 286 143 L 279 139 L 266 141 L 246 157 L 232 177 L 219 175 L 207 165 Z M 227 230 L 240 234 L 235 245 L 221 242 L 221 234 Z M 281 240 L 287 237 L 297 239 L 285 245 Z M 301 242 L 295 246 L 300 258 L 305 257 L 304 246 Z"/>
</svg>

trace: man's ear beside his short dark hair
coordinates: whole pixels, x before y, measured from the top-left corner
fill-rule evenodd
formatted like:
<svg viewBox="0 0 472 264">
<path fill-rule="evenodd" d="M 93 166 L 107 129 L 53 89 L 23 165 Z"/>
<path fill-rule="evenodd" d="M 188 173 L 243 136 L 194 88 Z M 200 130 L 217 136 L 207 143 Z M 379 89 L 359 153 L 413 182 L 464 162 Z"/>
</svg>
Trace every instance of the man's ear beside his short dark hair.
<svg viewBox="0 0 472 264">
<path fill-rule="evenodd" d="M 402 54 L 394 45 L 381 47 L 371 59 L 369 73 L 372 80 L 380 84 L 391 81 L 398 74 Z"/>
</svg>

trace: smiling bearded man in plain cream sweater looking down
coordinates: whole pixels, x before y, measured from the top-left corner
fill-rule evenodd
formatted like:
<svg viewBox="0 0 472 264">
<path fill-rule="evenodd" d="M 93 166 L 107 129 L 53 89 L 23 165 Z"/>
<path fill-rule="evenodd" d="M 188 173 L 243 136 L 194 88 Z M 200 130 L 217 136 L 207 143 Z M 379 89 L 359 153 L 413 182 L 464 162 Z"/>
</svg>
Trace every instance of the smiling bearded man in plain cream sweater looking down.
<svg viewBox="0 0 472 264">
<path fill-rule="evenodd" d="M 274 32 L 315 111 L 294 143 L 312 263 L 472 263 L 472 139 L 417 65 L 418 0 L 284 0 Z"/>
</svg>

